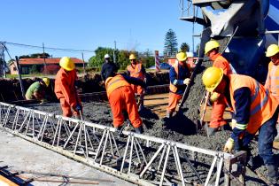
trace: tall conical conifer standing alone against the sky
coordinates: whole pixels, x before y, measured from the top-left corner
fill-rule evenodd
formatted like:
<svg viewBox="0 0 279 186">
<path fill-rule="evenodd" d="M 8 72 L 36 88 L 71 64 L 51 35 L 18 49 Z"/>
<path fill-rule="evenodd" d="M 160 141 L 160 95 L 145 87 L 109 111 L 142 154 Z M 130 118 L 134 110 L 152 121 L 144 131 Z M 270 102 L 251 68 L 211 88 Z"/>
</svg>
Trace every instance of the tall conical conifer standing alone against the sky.
<svg viewBox="0 0 279 186">
<path fill-rule="evenodd" d="M 177 52 L 177 38 L 172 29 L 167 31 L 164 44 L 164 56 L 174 56 Z"/>
</svg>

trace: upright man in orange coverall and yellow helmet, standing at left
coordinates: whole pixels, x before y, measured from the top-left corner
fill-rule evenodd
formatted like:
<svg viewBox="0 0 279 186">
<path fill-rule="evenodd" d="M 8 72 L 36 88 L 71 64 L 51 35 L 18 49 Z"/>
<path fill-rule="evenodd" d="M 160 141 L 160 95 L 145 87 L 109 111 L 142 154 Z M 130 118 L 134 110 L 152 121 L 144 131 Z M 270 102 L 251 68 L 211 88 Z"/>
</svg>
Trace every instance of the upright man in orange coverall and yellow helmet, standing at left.
<svg viewBox="0 0 279 186">
<path fill-rule="evenodd" d="M 56 75 L 54 92 L 60 101 L 63 116 L 72 117 L 71 109 L 73 109 L 74 117 L 80 119 L 82 107 L 74 86 L 74 82 L 77 80 L 74 61 L 71 58 L 63 57 L 60 59 L 59 66 L 61 68 Z"/>
</svg>

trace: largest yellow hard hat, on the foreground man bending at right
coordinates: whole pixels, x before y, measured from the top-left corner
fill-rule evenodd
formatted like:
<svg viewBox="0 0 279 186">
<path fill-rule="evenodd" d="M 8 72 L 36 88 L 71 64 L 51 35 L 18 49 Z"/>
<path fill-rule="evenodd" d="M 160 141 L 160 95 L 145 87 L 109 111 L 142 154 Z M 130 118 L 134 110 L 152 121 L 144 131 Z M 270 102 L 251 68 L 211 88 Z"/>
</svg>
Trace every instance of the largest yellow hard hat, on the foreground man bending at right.
<svg viewBox="0 0 279 186">
<path fill-rule="evenodd" d="M 209 67 L 205 70 L 203 74 L 203 82 L 205 84 L 205 89 L 209 92 L 213 92 L 214 89 L 219 85 L 223 77 L 223 70 L 217 67 Z"/>
</svg>

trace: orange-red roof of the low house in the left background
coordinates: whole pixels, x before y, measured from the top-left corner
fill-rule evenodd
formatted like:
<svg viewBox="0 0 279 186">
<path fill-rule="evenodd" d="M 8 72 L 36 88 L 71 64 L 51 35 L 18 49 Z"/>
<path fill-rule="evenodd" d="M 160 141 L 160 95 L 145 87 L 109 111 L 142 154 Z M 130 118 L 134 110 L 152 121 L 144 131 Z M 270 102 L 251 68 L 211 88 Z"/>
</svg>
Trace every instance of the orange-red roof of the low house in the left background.
<svg viewBox="0 0 279 186">
<path fill-rule="evenodd" d="M 74 64 L 83 64 L 83 61 L 79 58 L 71 58 Z M 46 64 L 59 64 L 60 58 L 45 58 Z M 43 65 L 43 58 L 20 58 L 19 65 Z"/>
</svg>

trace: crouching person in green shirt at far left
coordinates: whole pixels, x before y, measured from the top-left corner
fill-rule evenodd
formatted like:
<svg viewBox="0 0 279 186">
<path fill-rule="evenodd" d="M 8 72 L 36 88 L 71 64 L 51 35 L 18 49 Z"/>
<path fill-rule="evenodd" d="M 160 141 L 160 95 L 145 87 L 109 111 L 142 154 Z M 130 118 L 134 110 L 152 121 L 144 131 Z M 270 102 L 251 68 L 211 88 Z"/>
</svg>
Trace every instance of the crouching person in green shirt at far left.
<svg viewBox="0 0 279 186">
<path fill-rule="evenodd" d="M 27 100 L 36 99 L 36 100 L 40 101 L 41 104 L 43 104 L 44 102 L 46 102 L 45 89 L 47 87 L 49 87 L 49 85 L 50 85 L 49 78 L 43 78 L 41 81 L 35 81 L 27 89 L 25 98 Z"/>
</svg>

